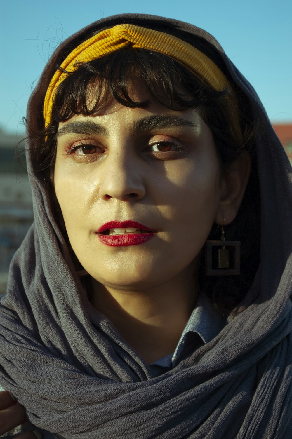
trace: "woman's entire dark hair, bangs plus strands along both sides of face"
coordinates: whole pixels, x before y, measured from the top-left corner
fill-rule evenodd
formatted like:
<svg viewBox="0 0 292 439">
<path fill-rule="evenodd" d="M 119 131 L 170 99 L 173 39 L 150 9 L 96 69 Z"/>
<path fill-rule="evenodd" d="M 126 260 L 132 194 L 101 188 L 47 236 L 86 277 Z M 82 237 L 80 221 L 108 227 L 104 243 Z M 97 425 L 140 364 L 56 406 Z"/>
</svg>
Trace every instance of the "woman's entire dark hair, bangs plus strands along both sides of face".
<svg viewBox="0 0 292 439">
<path fill-rule="evenodd" d="M 256 156 L 254 153 L 254 126 L 249 104 L 240 90 L 234 86 L 240 110 L 242 139 L 234 136 L 234 115 L 230 105 L 231 90 L 216 91 L 200 75 L 194 76 L 182 65 L 165 55 L 145 49 L 126 47 L 94 61 L 79 63 L 76 70 L 68 73 L 58 86 L 54 96 L 52 119 L 46 129 L 32 133 L 37 148 L 38 169 L 47 185 L 53 206 L 53 171 L 56 155 L 58 124 L 73 114 L 90 115 L 101 108 L 112 96 L 120 104 L 131 108 L 146 107 L 150 99 L 135 102 L 129 96 L 129 86 L 134 80 L 143 83 L 149 96 L 173 110 L 184 111 L 200 108 L 202 118 L 213 133 L 217 154 L 222 169 L 226 169 L 247 149 L 252 156 L 252 174 L 236 219 L 225 228 L 228 240 L 240 240 L 241 275 L 205 277 L 202 254 L 199 283 L 213 304 L 222 313 L 227 313 L 242 300 L 252 284 L 259 263 L 259 185 L 257 183 Z M 88 90 L 95 90 L 95 102 L 88 106 Z M 216 239 L 216 227 L 209 239 Z"/>
</svg>

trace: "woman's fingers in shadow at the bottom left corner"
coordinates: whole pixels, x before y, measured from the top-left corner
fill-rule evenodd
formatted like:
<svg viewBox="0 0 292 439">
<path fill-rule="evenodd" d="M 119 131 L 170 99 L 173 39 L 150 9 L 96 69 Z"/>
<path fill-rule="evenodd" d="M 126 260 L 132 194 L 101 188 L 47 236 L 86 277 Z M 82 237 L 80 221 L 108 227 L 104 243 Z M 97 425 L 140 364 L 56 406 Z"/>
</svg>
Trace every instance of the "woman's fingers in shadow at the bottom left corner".
<svg viewBox="0 0 292 439">
<path fill-rule="evenodd" d="M 26 421 L 25 408 L 14 401 L 9 392 L 0 392 L 0 436 Z M 36 439 L 36 435 L 26 432 L 15 439 Z"/>
</svg>

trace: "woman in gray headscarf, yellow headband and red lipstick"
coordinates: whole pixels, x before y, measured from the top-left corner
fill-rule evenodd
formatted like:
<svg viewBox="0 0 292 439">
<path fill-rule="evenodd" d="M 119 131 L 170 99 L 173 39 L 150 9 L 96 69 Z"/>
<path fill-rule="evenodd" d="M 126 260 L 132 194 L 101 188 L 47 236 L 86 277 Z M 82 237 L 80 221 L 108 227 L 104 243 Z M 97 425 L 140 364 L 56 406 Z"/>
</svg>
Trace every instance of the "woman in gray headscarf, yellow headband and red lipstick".
<svg viewBox="0 0 292 439">
<path fill-rule="evenodd" d="M 95 22 L 27 119 L 35 222 L 1 300 L 19 402 L 2 414 L 22 404 L 47 438 L 288 438 L 291 167 L 216 40 Z"/>
</svg>

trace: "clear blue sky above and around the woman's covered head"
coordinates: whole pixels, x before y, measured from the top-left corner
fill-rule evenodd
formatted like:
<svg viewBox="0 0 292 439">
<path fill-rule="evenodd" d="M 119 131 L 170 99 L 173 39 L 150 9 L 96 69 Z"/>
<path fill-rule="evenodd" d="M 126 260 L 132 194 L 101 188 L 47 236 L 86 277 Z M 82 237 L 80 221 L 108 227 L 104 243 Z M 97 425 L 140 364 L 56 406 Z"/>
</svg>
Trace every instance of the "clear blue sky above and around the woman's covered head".
<svg viewBox="0 0 292 439">
<path fill-rule="evenodd" d="M 0 0 L 0 127 L 23 130 L 29 95 L 67 36 L 119 13 L 162 15 L 210 32 L 252 83 L 272 122 L 292 122 L 291 0 Z"/>
</svg>

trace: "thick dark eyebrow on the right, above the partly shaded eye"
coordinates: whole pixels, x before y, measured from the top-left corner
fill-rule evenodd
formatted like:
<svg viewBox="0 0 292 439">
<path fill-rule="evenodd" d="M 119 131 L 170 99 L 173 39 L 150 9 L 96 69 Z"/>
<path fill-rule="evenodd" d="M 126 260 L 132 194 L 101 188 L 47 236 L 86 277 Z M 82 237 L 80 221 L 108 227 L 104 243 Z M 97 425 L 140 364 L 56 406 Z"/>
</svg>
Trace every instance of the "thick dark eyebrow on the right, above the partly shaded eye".
<svg viewBox="0 0 292 439">
<path fill-rule="evenodd" d="M 137 134 L 139 131 L 151 131 L 157 128 L 169 128 L 169 126 L 195 126 L 195 122 L 191 122 L 189 119 L 184 119 L 179 116 L 172 115 L 152 115 L 144 116 L 141 119 L 133 123 L 132 131 Z"/>
</svg>

